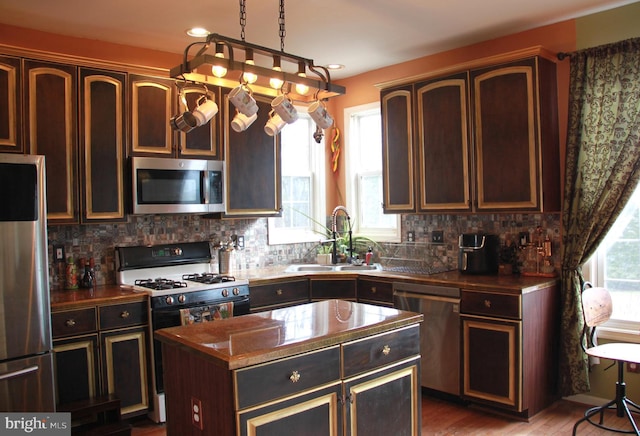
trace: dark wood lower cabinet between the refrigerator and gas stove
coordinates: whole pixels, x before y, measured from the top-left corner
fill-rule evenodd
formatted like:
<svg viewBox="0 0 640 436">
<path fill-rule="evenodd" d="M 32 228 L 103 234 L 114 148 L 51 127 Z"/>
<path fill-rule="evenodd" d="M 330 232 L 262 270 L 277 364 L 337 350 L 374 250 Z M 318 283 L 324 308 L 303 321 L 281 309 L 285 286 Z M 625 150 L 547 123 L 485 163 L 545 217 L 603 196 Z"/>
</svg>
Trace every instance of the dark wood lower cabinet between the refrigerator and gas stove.
<svg viewBox="0 0 640 436">
<path fill-rule="evenodd" d="M 114 395 L 125 418 L 146 413 L 146 308 L 140 301 L 52 312 L 58 405 Z"/>
</svg>

